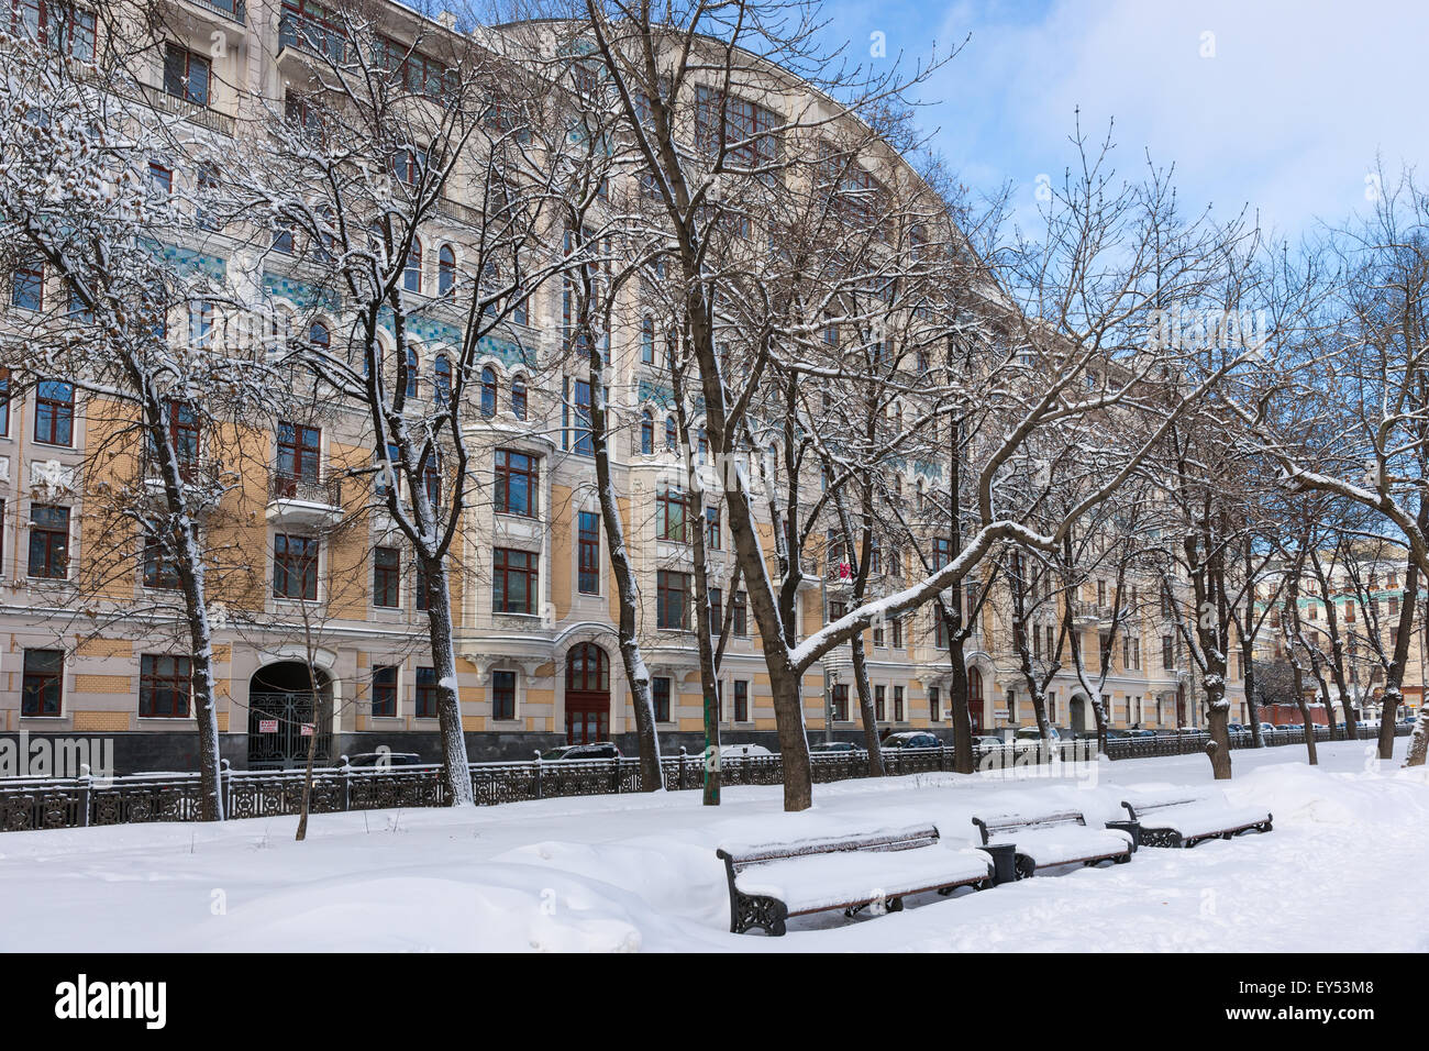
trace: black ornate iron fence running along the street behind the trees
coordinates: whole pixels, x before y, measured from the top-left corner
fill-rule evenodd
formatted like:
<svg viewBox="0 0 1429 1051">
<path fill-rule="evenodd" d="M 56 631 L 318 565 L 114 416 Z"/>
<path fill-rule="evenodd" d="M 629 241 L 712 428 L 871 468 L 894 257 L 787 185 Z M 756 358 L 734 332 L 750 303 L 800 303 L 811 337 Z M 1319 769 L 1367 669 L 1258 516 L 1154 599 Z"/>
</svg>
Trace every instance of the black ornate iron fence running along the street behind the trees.
<svg viewBox="0 0 1429 1051">
<path fill-rule="evenodd" d="M 1396 726 L 1406 736 L 1408 726 Z M 1305 744 L 1303 728 L 1286 728 L 1272 735 L 1275 745 Z M 1329 741 L 1326 726 L 1316 728 L 1318 741 Z M 1340 735 L 1343 736 L 1343 735 Z M 1362 739 L 1372 739 L 1368 734 Z M 1146 738 L 1115 738 L 1107 742 L 1112 759 L 1157 755 L 1186 755 L 1205 748 L 1205 734 L 1160 734 Z M 1232 748 L 1250 746 L 1250 735 L 1236 735 Z M 983 768 L 1020 766 L 1053 759 L 1090 761 L 1093 741 L 1016 741 L 975 749 Z M 850 781 L 869 774 L 869 756 L 862 749 L 816 752 L 810 756 L 816 784 Z M 952 748 L 889 749 L 883 754 L 890 775 L 950 771 Z M 573 795 L 619 795 L 639 792 L 640 762 L 622 759 L 567 759 L 542 762 L 472 764 L 472 786 L 483 806 L 550 799 Z M 783 781 L 779 755 L 732 756 L 720 761 L 722 784 L 777 785 Z M 664 788 L 700 788 L 704 756 L 679 755 L 660 761 Z M 224 761 L 224 811 L 233 818 L 267 818 L 297 814 L 303 802 L 302 769 L 233 771 Z M 450 791 L 442 766 L 327 766 L 313 771 L 313 814 L 446 806 Z M 6 778 L 0 779 L 0 831 L 129 825 L 147 821 L 197 821 L 200 815 L 197 774 L 137 774 L 123 778 Z"/>
</svg>

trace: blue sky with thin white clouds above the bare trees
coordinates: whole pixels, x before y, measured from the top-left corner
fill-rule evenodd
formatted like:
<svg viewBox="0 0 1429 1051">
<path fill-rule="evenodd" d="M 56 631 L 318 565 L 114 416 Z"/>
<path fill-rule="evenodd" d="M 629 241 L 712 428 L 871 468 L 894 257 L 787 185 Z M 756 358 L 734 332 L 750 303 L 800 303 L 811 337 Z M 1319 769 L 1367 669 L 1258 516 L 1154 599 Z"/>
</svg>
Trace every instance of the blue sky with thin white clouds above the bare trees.
<svg viewBox="0 0 1429 1051">
<path fill-rule="evenodd" d="M 825 14 L 865 59 L 873 31 L 887 60 L 972 34 L 919 120 L 975 190 L 1010 180 L 1023 217 L 1037 176 L 1073 160 L 1077 106 L 1093 137 L 1116 119 L 1119 172 L 1139 176 L 1150 150 L 1175 162 L 1187 209 L 1250 204 L 1292 237 L 1363 210 L 1376 154 L 1429 179 L 1429 3 L 842 0 Z"/>
</svg>

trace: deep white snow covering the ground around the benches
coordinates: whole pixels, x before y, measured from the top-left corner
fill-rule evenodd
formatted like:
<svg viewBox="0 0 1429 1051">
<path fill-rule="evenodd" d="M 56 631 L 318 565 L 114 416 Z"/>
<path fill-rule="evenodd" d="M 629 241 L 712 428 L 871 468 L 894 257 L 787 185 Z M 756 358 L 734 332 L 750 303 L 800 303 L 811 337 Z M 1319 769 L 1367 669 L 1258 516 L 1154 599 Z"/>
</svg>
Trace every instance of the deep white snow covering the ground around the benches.
<svg viewBox="0 0 1429 1051">
<path fill-rule="evenodd" d="M 972 842 L 973 814 L 1067 808 L 1095 824 L 1123 818 L 1132 786 L 1209 789 L 1209 764 L 850 781 L 816 786 L 805 814 L 783 814 L 777 788 L 726 789 L 719 809 L 676 792 L 323 814 L 302 844 L 296 818 L 7 832 L 0 951 L 1429 951 L 1429 771 L 1366 744 L 1322 744 L 1320 764 L 1235 754 L 1226 795 L 1269 808 L 1269 835 L 800 917 L 785 938 L 729 934 L 717 844 L 926 821 Z"/>
</svg>

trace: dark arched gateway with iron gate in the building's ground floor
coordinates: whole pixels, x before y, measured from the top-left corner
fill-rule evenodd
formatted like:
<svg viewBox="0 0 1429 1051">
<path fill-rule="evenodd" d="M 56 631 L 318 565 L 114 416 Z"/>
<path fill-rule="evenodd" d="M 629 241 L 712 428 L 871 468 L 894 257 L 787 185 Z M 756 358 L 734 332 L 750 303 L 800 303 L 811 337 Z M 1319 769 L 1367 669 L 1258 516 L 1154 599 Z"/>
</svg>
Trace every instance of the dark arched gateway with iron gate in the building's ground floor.
<svg viewBox="0 0 1429 1051">
<path fill-rule="evenodd" d="M 314 734 L 314 762 L 332 761 L 333 685 L 322 668 L 314 671 L 317 682 L 302 661 L 279 661 L 249 679 L 249 769 L 306 766 Z"/>
</svg>

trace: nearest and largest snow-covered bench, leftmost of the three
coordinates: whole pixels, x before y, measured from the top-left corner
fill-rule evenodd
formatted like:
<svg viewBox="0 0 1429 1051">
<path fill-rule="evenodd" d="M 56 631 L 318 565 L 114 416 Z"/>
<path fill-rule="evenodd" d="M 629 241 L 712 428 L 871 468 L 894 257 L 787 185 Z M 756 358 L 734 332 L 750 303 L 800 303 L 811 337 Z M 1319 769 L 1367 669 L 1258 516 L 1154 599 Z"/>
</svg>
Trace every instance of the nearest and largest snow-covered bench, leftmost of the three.
<svg viewBox="0 0 1429 1051">
<path fill-rule="evenodd" d="M 890 912 L 922 891 L 990 885 L 982 851 L 950 849 L 932 825 L 785 844 L 725 844 L 716 854 L 729 877 L 729 929 L 785 932 L 785 919 L 842 908 L 853 915 L 875 902 Z"/>
</svg>

